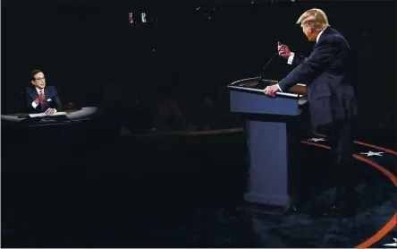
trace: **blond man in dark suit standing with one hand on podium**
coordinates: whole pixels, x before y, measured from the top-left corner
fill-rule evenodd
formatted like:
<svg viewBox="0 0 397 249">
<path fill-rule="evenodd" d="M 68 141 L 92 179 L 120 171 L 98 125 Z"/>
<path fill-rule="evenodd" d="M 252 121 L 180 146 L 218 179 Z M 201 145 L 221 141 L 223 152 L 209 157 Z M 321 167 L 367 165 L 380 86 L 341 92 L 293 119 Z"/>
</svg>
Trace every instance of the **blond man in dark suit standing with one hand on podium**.
<svg viewBox="0 0 397 249">
<path fill-rule="evenodd" d="M 307 58 L 291 53 L 278 43 L 279 55 L 296 67 L 278 84 L 265 89 L 266 96 L 305 83 L 312 125 L 329 134 L 337 193 L 325 216 L 350 216 L 356 211 L 355 180 L 352 168 L 352 121 L 358 114 L 350 79 L 351 47 L 342 34 L 331 28 L 322 10 L 311 9 L 297 21 L 310 41 L 316 41 Z"/>
</svg>

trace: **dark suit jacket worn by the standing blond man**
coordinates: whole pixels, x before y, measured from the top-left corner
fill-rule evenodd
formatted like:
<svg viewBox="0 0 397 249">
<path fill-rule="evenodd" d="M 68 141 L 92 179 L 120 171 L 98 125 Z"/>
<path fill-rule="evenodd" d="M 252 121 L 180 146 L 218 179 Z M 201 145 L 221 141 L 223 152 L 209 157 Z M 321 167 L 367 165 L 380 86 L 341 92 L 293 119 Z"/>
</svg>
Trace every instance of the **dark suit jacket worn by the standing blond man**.
<svg viewBox="0 0 397 249">
<path fill-rule="evenodd" d="M 285 91 L 306 83 L 313 126 L 351 120 L 358 114 L 351 82 L 351 47 L 342 34 L 327 27 L 308 58 L 295 54 L 296 67 L 279 86 Z"/>
</svg>

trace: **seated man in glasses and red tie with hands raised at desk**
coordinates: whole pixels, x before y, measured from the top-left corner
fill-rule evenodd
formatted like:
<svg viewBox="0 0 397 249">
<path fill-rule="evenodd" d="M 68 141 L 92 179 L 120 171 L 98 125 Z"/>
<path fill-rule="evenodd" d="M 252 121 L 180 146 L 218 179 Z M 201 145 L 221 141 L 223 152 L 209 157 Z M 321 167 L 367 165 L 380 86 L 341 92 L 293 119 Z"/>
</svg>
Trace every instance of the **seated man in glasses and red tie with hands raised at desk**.
<svg viewBox="0 0 397 249">
<path fill-rule="evenodd" d="M 46 77 L 40 70 L 31 73 L 33 86 L 25 90 L 25 102 L 29 112 L 54 114 L 62 108 L 54 86 L 46 86 Z"/>
</svg>

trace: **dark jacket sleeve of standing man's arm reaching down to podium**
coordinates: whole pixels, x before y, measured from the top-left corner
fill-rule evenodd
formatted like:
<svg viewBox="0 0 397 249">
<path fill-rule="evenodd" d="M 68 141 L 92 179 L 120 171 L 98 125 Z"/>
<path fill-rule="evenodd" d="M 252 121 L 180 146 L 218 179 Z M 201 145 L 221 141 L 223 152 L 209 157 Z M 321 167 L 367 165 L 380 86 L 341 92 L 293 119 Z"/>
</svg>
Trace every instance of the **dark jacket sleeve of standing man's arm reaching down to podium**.
<svg viewBox="0 0 397 249">
<path fill-rule="evenodd" d="M 282 81 L 278 82 L 281 91 L 290 89 L 301 82 L 311 82 L 318 73 L 322 73 L 333 60 L 339 49 L 338 39 L 327 38 L 313 52 L 291 71 Z"/>
</svg>

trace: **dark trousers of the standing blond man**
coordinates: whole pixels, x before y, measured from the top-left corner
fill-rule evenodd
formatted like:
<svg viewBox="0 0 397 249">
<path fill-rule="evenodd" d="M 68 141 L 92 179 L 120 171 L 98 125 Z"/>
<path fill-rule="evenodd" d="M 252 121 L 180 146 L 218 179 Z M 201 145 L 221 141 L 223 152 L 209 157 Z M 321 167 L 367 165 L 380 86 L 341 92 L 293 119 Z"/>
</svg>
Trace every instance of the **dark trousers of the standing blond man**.
<svg viewBox="0 0 397 249">
<path fill-rule="evenodd" d="M 355 204 L 356 177 L 352 158 L 352 129 L 352 122 L 337 122 L 317 129 L 317 132 L 327 134 L 331 143 L 336 205 Z"/>
</svg>

